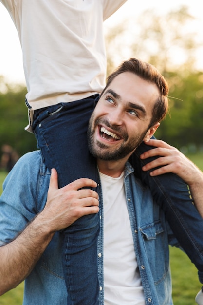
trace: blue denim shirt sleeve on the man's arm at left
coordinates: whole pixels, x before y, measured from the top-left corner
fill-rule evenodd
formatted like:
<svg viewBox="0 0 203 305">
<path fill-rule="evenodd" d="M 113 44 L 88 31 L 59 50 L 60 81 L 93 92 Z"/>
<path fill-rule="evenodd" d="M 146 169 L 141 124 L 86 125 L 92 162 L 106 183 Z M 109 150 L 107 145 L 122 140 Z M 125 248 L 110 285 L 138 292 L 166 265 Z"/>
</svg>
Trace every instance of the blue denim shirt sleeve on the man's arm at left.
<svg viewBox="0 0 203 305">
<path fill-rule="evenodd" d="M 3 183 L 0 197 L 1 246 L 14 239 L 38 212 L 36 198 L 40 160 L 37 151 L 25 154 Z"/>
</svg>

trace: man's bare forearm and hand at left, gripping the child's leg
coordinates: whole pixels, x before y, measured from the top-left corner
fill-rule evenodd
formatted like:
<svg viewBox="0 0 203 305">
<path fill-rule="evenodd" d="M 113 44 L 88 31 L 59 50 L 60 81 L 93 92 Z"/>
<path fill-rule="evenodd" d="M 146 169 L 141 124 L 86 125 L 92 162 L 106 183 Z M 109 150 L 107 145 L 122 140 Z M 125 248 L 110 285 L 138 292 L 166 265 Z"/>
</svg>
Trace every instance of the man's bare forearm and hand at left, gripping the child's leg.
<svg viewBox="0 0 203 305">
<path fill-rule="evenodd" d="M 81 178 L 58 189 L 57 172 L 53 172 L 44 209 L 15 240 L 0 247 L 0 295 L 30 274 L 56 231 L 99 211 L 98 194 L 81 189 L 96 187 L 93 180 Z"/>
</svg>

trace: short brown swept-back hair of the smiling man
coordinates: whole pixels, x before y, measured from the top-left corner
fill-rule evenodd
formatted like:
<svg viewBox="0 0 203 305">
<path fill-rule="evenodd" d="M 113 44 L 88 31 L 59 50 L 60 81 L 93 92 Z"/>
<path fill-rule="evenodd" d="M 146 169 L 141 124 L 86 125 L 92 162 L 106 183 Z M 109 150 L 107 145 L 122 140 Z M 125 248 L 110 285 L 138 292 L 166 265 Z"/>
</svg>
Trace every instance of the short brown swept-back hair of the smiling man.
<svg viewBox="0 0 203 305">
<path fill-rule="evenodd" d="M 140 76 L 141 78 L 157 85 L 160 96 L 158 97 L 154 108 L 152 110 L 152 119 L 150 126 L 153 126 L 156 122 L 160 122 L 166 117 L 168 112 L 168 84 L 164 76 L 151 64 L 141 61 L 136 58 L 130 58 L 124 61 L 121 65 L 107 78 L 107 84 L 101 95 L 104 93 L 107 87 L 109 87 L 111 81 L 121 73 L 131 72 Z"/>
</svg>

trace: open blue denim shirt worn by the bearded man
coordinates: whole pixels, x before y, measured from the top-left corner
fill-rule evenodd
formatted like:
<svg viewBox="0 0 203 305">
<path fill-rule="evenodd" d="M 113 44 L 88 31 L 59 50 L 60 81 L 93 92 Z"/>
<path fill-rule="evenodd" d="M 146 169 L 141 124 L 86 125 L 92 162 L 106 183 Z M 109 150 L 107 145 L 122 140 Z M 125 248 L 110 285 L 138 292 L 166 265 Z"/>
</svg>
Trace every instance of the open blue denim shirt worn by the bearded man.
<svg viewBox="0 0 203 305">
<path fill-rule="evenodd" d="M 125 191 L 134 249 L 146 305 L 172 305 L 168 243 L 177 244 L 165 215 L 150 191 L 125 169 Z M 6 177 L 0 197 L 0 246 L 10 242 L 43 210 L 50 172 L 39 151 L 24 155 Z M 101 228 L 98 238 L 99 303 L 104 304 L 103 207 L 100 189 Z M 169 238 L 168 238 L 169 237 Z M 65 305 L 67 290 L 62 270 L 62 234 L 56 232 L 31 274 L 25 280 L 23 305 Z M 119 262 L 118 262 L 119 263 Z"/>
</svg>

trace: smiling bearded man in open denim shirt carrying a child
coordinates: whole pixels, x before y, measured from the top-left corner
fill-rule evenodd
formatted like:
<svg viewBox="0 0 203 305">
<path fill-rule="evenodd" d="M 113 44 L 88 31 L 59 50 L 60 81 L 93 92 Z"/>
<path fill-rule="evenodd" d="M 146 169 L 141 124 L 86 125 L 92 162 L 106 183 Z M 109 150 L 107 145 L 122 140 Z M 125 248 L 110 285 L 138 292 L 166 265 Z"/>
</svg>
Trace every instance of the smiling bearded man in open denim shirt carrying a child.
<svg viewBox="0 0 203 305">
<path fill-rule="evenodd" d="M 165 173 L 176 172 L 185 179 L 201 206 L 203 173 L 178 150 L 150 141 L 167 113 L 167 94 L 163 76 L 134 58 L 109 77 L 88 130 L 100 176 L 99 197 L 91 189 L 81 189 L 96 186 L 86 178 L 58 189 L 57 172 L 53 169 L 50 178 L 39 151 L 18 161 L 0 198 L 0 294 L 25 279 L 24 304 L 66 304 L 64 276 L 67 281 L 69 277 L 61 263 L 61 230 L 99 212 L 99 304 L 173 304 L 168 244 L 178 243 L 164 210 L 128 162 L 143 140 L 150 145 L 155 141 L 159 147 L 153 155 L 163 156 L 157 159 L 159 165 Z M 203 224 L 196 211 L 194 227 L 197 221 Z M 88 257 L 86 262 L 91 266 Z"/>
</svg>

